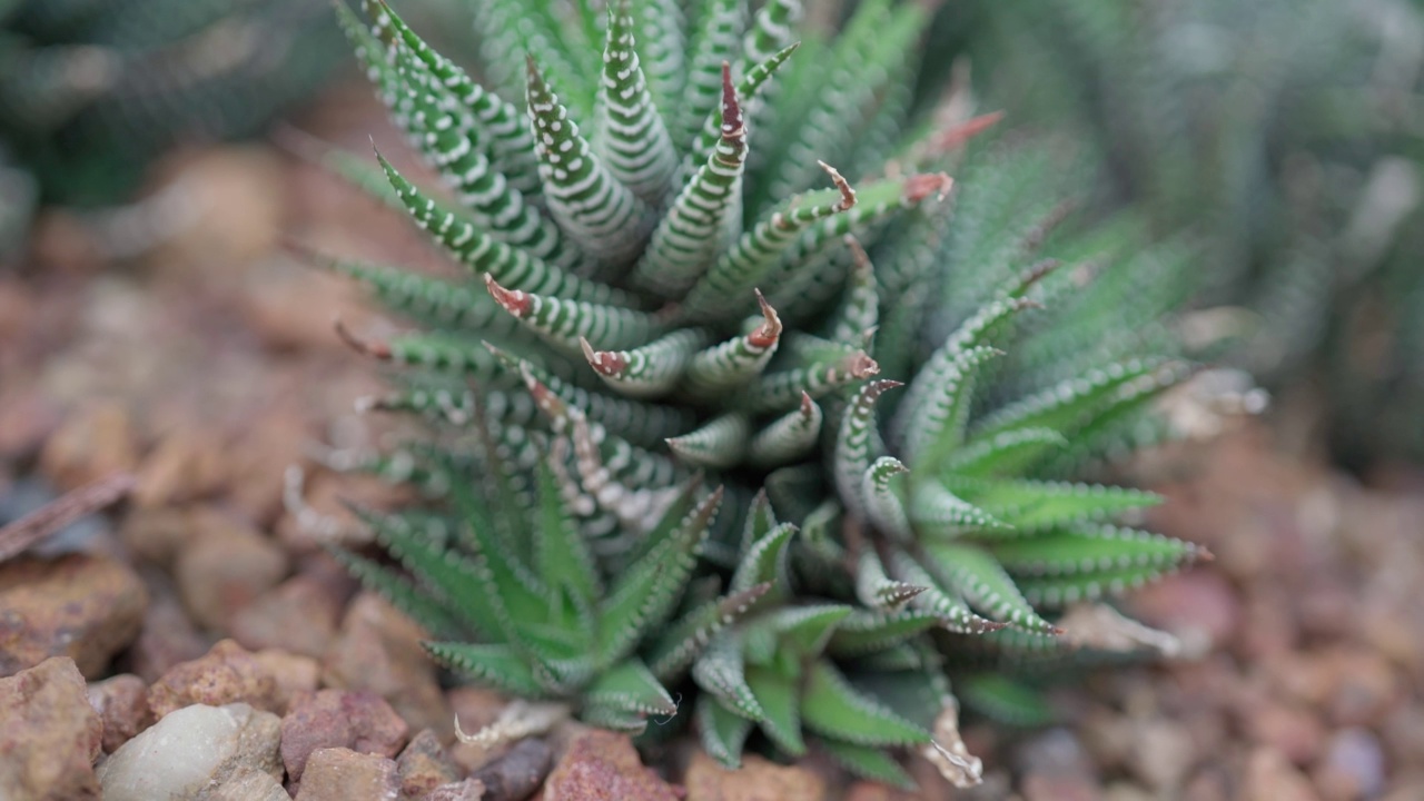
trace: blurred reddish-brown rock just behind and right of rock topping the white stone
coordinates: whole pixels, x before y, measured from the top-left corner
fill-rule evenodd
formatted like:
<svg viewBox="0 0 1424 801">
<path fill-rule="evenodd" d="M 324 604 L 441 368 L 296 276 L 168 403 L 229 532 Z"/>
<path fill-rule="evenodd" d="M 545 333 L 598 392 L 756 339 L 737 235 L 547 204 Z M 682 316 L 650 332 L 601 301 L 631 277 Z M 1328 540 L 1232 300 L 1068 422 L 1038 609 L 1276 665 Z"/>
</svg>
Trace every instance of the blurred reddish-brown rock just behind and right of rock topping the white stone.
<svg viewBox="0 0 1424 801">
<path fill-rule="evenodd" d="M 342 613 L 342 599 L 316 576 L 293 576 L 232 617 L 232 639 L 249 648 L 282 648 L 322 658 Z"/>
</svg>

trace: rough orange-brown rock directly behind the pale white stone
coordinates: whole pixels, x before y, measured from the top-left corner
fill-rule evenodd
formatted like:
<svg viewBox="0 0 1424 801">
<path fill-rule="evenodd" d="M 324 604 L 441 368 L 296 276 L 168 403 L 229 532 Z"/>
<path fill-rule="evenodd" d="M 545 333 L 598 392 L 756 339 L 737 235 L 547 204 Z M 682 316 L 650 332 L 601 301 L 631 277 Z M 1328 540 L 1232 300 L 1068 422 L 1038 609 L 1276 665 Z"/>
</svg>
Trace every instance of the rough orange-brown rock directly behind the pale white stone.
<svg viewBox="0 0 1424 801">
<path fill-rule="evenodd" d="M 158 720 L 191 704 L 221 707 L 239 701 L 269 713 L 281 708 L 272 673 L 232 640 L 222 640 L 202 657 L 174 666 L 148 688 L 148 708 Z"/>
</svg>

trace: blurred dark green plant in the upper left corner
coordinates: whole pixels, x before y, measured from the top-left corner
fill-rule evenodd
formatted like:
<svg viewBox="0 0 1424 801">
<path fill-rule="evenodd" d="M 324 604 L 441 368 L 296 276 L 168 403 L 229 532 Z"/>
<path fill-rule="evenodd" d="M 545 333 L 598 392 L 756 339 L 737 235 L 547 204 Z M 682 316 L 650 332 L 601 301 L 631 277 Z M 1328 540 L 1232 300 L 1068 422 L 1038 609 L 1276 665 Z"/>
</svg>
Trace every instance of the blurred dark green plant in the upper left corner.
<svg viewBox="0 0 1424 801">
<path fill-rule="evenodd" d="M 320 0 L 6 0 L 0 140 L 47 202 L 111 204 L 182 138 L 258 133 L 342 54 Z"/>
</svg>

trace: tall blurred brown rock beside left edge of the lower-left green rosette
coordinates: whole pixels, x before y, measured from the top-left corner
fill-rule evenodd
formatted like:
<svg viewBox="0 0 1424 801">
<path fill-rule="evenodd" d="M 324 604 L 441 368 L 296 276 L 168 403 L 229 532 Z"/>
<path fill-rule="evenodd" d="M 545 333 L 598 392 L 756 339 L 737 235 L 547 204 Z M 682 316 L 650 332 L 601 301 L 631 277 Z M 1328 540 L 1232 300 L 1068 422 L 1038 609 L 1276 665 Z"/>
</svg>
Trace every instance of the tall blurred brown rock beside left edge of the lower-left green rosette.
<svg viewBox="0 0 1424 801">
<path fill-rule="evenodd" d="M 346 609 L 340 633 L 322 660 L 328 687 L 370 690 L 413 728 L 447 731 L 450 706 L 420 641 L 426 633 L 379 596 L 362 593 Z"/>
</svg>

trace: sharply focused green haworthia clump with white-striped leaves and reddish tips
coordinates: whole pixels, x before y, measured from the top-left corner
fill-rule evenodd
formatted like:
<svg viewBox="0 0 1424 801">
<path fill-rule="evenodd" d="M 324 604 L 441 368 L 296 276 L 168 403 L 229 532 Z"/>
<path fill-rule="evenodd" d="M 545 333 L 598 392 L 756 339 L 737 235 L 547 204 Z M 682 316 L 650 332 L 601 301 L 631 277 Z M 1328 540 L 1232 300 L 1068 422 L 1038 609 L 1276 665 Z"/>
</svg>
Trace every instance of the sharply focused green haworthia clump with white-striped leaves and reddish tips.
<svg viewBox="0 0 1424 801">
<path fill-rule="evenodd" d="M 1115 524 L 1156 496 L 1061 480 L 1186 375 L 1111 325 L 1149 264 L 1057 234 L 1061 164 L 1008 151 L 954 188 L 987 118 L 911 113 L 926 4 L 799 43 L 795 0 L 477 11 L 483 81 L 380 0 L 339 6 L 446 185 L 330 162 L 464 269 L 325 259 L 424 326 L 342 329 L 413 368 L 365 408 L 440 438 L 359 465 L 433 499 L 362 510 L 399 566 L 339 553 L 437 660 L 602 727 L 693 718 L 729 765 L 815 747 L 904 785 L 899 747 L 977 781 L 957 694 L 1027 714 L 1010 668 L 1161 644 L 1058 619 L 1200 556 Z M 941 308 L 950 271 L 983 291 Z"/>
</svg>

